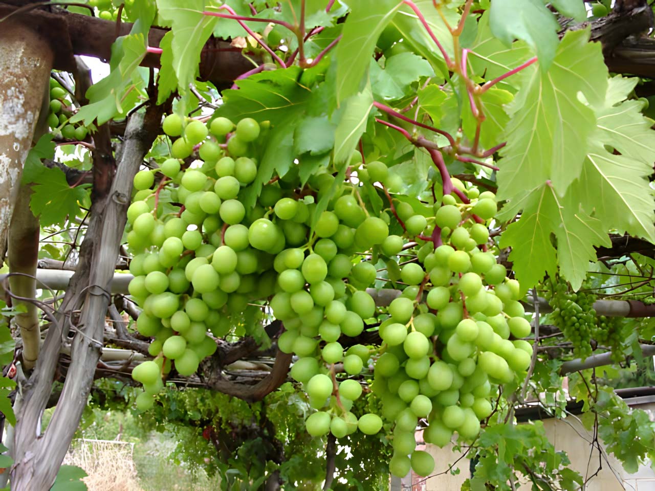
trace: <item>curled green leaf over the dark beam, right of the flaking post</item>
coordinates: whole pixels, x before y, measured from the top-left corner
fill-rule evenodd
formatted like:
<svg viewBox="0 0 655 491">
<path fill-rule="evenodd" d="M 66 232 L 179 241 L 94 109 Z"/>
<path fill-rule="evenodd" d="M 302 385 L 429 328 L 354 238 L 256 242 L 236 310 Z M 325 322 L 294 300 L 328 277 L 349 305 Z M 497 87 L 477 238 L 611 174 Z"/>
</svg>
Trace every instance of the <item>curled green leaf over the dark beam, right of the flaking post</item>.
<svg viewBox="0 0 655 491">
<path fill-rule="evenodd" d="M 134 26 L 138 24 L 139 21 Z M 89 103 L 70 118 L 71 123 L 84 121 L 84 124 L 88 125 L 98 118 L 100 125 L 124 113 L 123 98 L 126 91 L 130 90 L 128 85 L 132 81 L 134 71 L 145 56 L 145 39 L 143 33 L 129 34 L 119 37 L 111 45 L 109 75 L 88 88 L 86 98 Z"/>
</svg>

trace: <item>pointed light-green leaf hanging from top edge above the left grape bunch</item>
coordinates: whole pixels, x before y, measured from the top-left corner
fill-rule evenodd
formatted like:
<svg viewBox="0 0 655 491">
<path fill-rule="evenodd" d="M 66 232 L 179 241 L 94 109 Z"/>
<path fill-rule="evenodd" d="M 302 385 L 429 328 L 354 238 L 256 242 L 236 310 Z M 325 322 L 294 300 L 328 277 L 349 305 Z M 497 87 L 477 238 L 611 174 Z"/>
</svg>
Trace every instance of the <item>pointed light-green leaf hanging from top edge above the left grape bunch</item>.
<svg viewBox="0 0 655 491">
<path fill-rule="evenodd" d="M 180 94 L 186 94 L 198 73 L 200 52 L 214 31 L 216 17 L 203 15 L 204 0 L 157 0 L 162 27 L 171 27 L 173 70 Z"/>
</svg>

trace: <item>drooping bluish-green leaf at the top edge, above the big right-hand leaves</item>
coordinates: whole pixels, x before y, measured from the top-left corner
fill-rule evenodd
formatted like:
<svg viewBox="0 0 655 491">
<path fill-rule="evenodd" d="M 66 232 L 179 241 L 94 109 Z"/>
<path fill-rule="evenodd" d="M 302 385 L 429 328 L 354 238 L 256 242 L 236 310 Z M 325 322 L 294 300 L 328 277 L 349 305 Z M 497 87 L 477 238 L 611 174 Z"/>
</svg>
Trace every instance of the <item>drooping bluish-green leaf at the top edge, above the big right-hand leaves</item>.
<svg viewBox="0 0 655 491">
<path fill-rule="evenodd" d="M 489 27 L 507 47 L 514 39 L 523 39 L 536 51 L 542 71 L 550 68 L 557 50 L 559 24 L 542 0 L 494 0 Z"/>
</svg>

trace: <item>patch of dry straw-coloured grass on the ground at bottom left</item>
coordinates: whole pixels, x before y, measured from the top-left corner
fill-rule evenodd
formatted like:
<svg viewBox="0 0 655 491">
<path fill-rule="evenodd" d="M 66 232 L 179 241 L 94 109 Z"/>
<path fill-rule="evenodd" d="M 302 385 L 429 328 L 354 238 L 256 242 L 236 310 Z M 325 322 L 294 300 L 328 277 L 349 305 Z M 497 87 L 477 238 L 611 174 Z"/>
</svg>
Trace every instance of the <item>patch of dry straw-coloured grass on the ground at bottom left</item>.
<svg viewBox="0 0 655 491">
<path fill-rule="evenodd" d="M 132 460 L 134 444 L 120 441 L 76 440 L 64 464 L 77 465 L 88 474 L 89 491 L 143 491 Z"/>
</svg>

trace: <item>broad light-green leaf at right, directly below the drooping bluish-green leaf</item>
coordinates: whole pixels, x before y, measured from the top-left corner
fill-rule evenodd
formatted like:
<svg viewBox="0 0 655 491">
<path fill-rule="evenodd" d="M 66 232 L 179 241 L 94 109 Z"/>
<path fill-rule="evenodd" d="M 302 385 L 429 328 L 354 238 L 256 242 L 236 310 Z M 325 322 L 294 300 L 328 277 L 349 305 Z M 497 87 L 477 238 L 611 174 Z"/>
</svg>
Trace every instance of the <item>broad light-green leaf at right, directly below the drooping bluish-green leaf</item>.
<svg viewBox="0 0 655 491">
<path fill-rule="evenodd" d="M 596 124 L 590 104 L 605 100 L 607 67 L 589 31 L 569 31 L 548 71 L 525 69 L 521 90 L 508 105 L 507 145 L 498 167 L 498 196 L 552 181 L 560 195 L 580 175 Z"/>
</svg>

